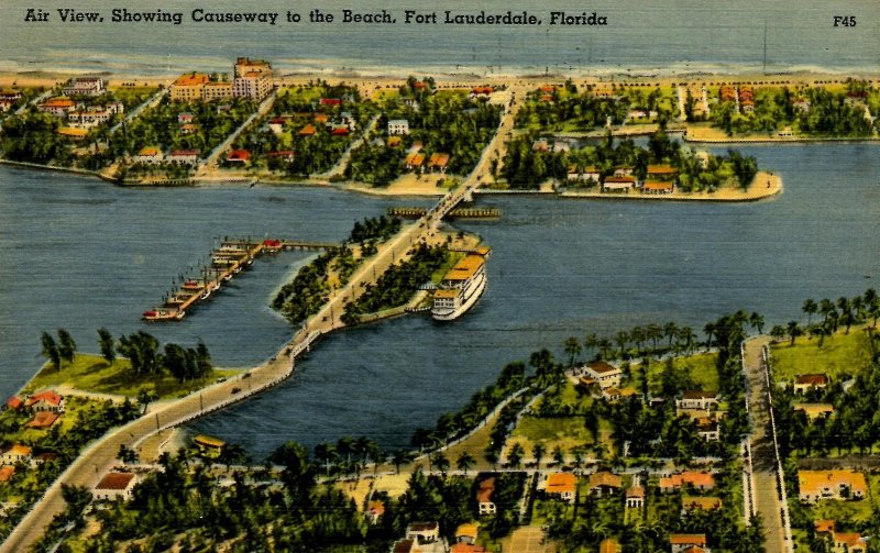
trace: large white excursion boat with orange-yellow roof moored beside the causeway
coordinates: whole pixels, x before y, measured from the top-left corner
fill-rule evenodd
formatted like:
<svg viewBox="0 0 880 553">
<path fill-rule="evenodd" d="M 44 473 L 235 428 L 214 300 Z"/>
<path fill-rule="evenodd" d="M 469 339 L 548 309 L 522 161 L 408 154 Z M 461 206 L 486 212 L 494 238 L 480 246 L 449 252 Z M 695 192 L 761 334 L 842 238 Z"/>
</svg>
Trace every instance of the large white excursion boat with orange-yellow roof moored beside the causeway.
<svg viewBox="0 0 880 553">
<path fill-rule="evenodd" d="M 457 263 L 433 292 L 431 316 L 438 321 L 452 321 L 471 309 L 486 290 L 486 254 L 468 254 Z"/>
</svg>

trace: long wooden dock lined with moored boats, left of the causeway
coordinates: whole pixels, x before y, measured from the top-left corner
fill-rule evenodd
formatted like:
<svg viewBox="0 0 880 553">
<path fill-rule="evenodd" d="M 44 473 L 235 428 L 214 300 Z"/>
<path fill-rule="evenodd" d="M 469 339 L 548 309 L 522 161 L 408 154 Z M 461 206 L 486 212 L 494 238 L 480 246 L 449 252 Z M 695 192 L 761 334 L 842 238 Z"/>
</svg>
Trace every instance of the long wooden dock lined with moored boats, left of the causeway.
<svg viewBox="0 0 880 553">
<path fill-rule="evenodd" d="M 162 307 L 144 311 L 142 319 L 150 322 L 183 320 L 189 309 L 219 291 L 224 283 L 232 280 L 261 255 L 290 250 L 327 250 L 331 247 L 339 247 L 339 244 L 278 239 L 224 240 L 219 248 L 211 251 L 210 267 L 204 267 L 200 275 L 185 280 L 179 289 L 164 300 Z"/>
</svg>

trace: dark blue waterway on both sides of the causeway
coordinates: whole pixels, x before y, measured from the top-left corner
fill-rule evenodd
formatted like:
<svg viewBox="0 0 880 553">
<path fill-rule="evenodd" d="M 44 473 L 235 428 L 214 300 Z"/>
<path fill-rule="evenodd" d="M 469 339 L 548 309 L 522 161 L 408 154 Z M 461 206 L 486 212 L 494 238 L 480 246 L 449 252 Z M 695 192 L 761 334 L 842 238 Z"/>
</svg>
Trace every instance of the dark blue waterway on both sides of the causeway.
<svg viewBox="0 0 880 553">
<path fill-rule="evenodd" d="M 490 287 L 451 324 L 408 317 L 322 339 L 298 373 L 260 398 L 198 422 L 198 431 L 260 457 L 285 440 L 366 434 L 393 447 L 458 409 L 508 361 L 562 341 L 674 320 L 697 332 L 737 309 L 768 327 L 802 317 L 805 298 L 861 294 L 880 278 L 880 146 L 744 146 L 780 173 L 781 196 L 754 203 L 583 201 L 492 197 L 501 222 L 459 223 L 493 246 Z M 38 336 L 65 327 L 81 350 L 95 329 L 144 328 L 139 313 L 215 236 L 338 240 L 393 203 L 323 189 L 129 190 L 0 167 L 0 392 L 37 366 Z M 266 307 L 302 262 L 257 262 L 163 340 L 204 339 L 244 366 L 289 333 Z M 866 278 L 870 276 L 871 278 Z"/>
</svg>

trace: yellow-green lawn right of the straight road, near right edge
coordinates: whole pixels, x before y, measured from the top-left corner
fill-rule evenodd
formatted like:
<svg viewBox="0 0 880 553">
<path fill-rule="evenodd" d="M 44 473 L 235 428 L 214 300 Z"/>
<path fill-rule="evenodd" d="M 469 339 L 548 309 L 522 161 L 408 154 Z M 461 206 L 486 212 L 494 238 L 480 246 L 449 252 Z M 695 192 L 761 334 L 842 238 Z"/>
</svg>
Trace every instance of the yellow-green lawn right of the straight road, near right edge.
<svg viewBox="0 0 880 553">
<path fill-rule="evenodd" d="M 796 375 L 824 373 L 832 379 L 838 375 L 856 375 L 868 366 L 871 350 L 868 334 L 853 327 L 849 334 L 838 332 L 825 339 L 822 347 L 817 339 L 800 338 L 794 345 L 785 340 L 771 346 L 773 377 L 791 381 Z"/>
</svg>

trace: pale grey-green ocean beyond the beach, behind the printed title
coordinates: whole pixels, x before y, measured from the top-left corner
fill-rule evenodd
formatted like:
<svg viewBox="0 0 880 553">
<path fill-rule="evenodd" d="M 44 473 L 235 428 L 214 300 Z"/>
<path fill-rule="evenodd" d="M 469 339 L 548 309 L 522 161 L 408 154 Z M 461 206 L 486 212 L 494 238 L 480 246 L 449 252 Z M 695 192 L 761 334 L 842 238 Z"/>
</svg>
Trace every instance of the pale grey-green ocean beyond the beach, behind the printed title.
<svg viewBox="0 0 880 553">
<path fill-rule="evenodd" d="M 700 71 L 823 68 L 833 71 L 878 69 L 880 32 L 877 2 L 821 0 L 798 2 L 693 2 L 664 0 L 377 0 L 320 2 L 337 21 L 322 24 L 206 24 L 190 20 L 194 9 L 210 12 L 267 11 L 307 13 L 316 5 L 268 0 L 243 4 L 230 0 L 169 3 L 160 0 L 97 0 L 72 4 L 98 11 L 103 23 L 63 23 L 52 5 L 47 23 L 25 23 L 26 0 L 0 3 L 0 69 L 76 69 L 160 75 L 183 70 L 229 71 L 240 55 L 265 57 L 282 70 L 320 75 L 355 68 L 377 73 L 474 73 L 479 75 L 544 71 Z M 111 22 L 113 8 L 182 12 L 183 23 Z M 341 23 L 342 9 L 388 10 L 389 25 Z M 406 9 L 475 14 L 528 11 L 543 21 L 536 26 L 406 25 Z M 551 11 L 597 12 L 605 26 L 550 25 Z M 834 15 L 855 15 L 854 27 L 834 27 Z M 37 38 L 38 37 L 38 38 Z"/>
</svg>

